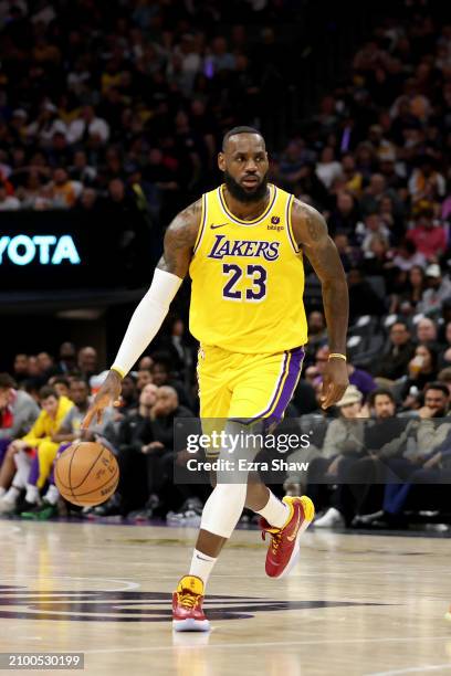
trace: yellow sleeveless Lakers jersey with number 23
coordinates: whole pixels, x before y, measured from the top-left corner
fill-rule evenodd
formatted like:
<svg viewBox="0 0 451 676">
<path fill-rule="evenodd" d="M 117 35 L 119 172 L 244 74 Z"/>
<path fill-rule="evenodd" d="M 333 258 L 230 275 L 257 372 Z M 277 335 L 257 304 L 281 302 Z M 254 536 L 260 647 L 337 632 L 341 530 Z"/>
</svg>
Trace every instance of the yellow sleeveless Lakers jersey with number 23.
<svg viewBox="0 0 451 676">
<path fill-rule="evenodd" d="M 268 208 L 241 221 L 224 186 L 202 196 L 189 267 L 189 328 L 203 345 L 244 353 L 282 352 L 307 341 L 304 265 L 291 225 L 293 196 L 269 186 Z"/>
</svg>

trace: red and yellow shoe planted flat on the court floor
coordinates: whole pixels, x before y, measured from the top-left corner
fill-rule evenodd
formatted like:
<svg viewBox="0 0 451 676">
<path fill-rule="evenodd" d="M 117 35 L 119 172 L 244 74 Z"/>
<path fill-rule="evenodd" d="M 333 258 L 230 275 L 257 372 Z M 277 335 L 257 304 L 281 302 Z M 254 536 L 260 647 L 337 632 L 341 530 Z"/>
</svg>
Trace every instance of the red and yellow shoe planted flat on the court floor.
<svg viewBox="0 0 451 676">
<path fill-rule="evenodd" d="M 172 594 L 172 629 L 176 632 L 208 632 L 210 623 L 202 611 L 203 582 L 185 575 Z"/>
</svg>

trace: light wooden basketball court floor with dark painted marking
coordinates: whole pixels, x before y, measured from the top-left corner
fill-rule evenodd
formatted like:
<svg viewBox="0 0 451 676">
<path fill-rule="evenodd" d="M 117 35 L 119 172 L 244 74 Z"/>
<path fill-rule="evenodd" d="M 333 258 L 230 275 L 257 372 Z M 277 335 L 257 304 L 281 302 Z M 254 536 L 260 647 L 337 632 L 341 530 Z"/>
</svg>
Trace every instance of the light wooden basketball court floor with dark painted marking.
<svg viewBox="0 0 451 676">
<path fill-rule="evenodd" d="M 0 652 L 81 652 L 93 676 L 451 674 L 449 538 L 307 531 L 276 581 L 260 532 L 237 531 L 208 587 L 213 631 L 174 635 L 195 537 L 0 520 Z"/>
</svg>

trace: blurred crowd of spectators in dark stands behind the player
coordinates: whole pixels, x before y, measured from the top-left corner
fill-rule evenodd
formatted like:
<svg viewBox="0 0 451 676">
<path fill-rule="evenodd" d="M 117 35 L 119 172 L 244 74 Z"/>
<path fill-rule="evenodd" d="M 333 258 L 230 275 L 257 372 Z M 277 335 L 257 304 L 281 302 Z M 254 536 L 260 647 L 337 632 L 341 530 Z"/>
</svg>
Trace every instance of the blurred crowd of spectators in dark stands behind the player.
<svg viewBox="0 0 451 676">
<path fill-rule="evenodd" d="M 220 181 L 223 133 L 260 128 L 270 179 L 327 218 L 352 314 L 352 385 L 325 415 L 327 338 L 307 274 L 310 342 L 287 424 L 313 431 L 311 469 L 281 476 L 281 490 L 306 485 L 325 511 L 317 527 L 445 521 L 451 24 L 432 2 L 392 2 L 353 53 L 337 54 L 339 76 L 312 87 L 308 4 L 0 1 L 0 210 L 90 212 L 119 233 L 146 229 L 158 247 L 175 213 Z M 331 51 L 337 27 L 323 23 Z M 208 488 L 171 480 L 186 462 L 174 418 L 198 411 L 187 296 L 126 378 L 123 406 L 91 433 L 114 448 L 122 483 L 90 518 L 200 513 Z M 34 355 L 30 338 L 0 377 L 2 513 L 56 514 L 52 461 L 80 434 L 106 366 L 71 342 Z"/>
</svg>

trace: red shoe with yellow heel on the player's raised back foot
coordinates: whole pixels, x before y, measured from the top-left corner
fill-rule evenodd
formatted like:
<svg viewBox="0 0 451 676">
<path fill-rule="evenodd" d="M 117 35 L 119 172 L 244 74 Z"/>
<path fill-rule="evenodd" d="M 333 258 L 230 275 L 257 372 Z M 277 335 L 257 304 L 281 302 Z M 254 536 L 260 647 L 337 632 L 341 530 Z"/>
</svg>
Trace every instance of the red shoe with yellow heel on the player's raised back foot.
<svg viewBox="0 0 451 676">
<path fill-rule="evenodd" d="M 285 496 L 282 501 L 289 505 L 291 510 L 289 520 L 283 528 L 274 528 L 266 519 L 260 519 L 263 540 L 266 532 L 271 536 L 265 566 L 266 575 L 270 578 L 283 578 L 290 573 L 300 554 L 300 537 L 312 524 L 315 516 L 315 507 L 306 495 L 302 497 Z"/>
</svg>

